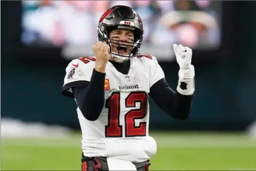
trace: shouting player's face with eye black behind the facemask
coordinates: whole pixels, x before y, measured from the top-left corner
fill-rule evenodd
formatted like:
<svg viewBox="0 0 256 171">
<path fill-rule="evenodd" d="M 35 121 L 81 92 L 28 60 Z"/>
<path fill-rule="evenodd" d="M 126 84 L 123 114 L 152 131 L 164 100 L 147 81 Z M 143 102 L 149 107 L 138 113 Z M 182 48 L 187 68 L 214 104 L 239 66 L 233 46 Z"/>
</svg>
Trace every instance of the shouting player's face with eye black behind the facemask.
<svg viewBox="0 0 256 171">
<path fill-rule="evenodd" d="M 131 49 L 133 48 L 133 42 L 134 42 L 134 34 L 130 30 L 113 30 L 110 32 L 110 38 L 112 39 L 111 42 L 113 42 L 112 45 L 112 52 L 118 53 L 119 55 L 130 55 Z M 116 40 L 116 41 L 115 41 Z M 118 41 L 119 42 L 118 46 Z"/>
</svg>

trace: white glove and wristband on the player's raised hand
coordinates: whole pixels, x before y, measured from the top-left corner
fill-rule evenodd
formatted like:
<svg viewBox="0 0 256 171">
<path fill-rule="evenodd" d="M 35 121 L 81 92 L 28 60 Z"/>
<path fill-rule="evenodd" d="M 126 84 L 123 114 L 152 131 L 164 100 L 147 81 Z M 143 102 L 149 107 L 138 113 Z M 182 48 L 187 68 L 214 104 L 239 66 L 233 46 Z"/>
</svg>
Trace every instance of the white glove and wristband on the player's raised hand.
<svg viewBox="0 0 256 171">
<path fill-rule="evenodd" d="M 183 95 L 192 95 L 195 91 L 195 68 L 191 65 L 192 50 L 183 45 L 173 45 L 177 63 L 180 65 L 177 91 Z"/>
</svg>

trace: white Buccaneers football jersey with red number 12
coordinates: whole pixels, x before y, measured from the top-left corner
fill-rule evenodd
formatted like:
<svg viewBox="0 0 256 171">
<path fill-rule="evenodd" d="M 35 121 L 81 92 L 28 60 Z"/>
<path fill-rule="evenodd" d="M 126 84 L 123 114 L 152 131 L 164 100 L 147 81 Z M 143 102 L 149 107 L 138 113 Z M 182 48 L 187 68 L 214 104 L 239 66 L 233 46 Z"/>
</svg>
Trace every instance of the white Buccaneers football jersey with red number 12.
<svg viewBox="0 0 256 171">
<path fill-rule="evenodd" d="M 154 56 L 139 55 L 130 61 L 127 75 L 107 63 L 104 107 L 96 121 L 88 121 L 77 107 L 84 156 L 142 162 L 156 154 L 156 141 L 148 133 L 148 99 L 150 87 L 164 78 L 164 72 Z M 94 67 L 95 57 L 72 60 L 63 86 L 90 81 Z M 71 88 L 66 91 L 72 92 Z"/>
</svg>

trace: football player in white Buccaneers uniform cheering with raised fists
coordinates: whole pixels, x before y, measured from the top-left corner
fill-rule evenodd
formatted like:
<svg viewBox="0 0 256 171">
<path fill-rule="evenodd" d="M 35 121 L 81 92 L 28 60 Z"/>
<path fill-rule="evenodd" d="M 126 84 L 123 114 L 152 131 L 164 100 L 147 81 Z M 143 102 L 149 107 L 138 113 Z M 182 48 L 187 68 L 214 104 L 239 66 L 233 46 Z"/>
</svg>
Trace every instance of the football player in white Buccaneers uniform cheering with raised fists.
<svg viewBox="0 0 256 171">
<path fill-rule="evenodd" d="M 175 119 L 187 119 L 195 91 L 192 50 L 173 45 L 180 65 L 177 91 L 156 57 L 139 53 L 143 25 L 128 6 L 100 18 L 93 57 L 72 60 L 63 95 L 75 98 L 82 130 L 82 170 L 148 170 L 157 151 L 149 136 L 149 96 Z"/>
</svg>

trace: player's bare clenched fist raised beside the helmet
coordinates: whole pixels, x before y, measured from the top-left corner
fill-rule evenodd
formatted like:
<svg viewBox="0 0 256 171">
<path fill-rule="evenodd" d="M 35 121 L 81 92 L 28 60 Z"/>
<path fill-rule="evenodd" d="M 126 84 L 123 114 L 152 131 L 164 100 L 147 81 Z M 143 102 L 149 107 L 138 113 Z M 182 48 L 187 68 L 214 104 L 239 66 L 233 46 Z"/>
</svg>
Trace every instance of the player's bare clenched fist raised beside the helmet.
<svg viewBox="0 0 256 171">
<path fill-rule="evenodd" d="M 104 73 L 108 62 L 109 46 L 106 42 L 99 41 L 92 46 L 92 50 L 96 58 L 95 70 Z"/>
</svg>

